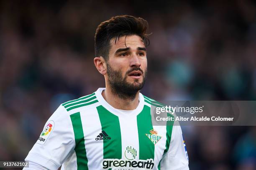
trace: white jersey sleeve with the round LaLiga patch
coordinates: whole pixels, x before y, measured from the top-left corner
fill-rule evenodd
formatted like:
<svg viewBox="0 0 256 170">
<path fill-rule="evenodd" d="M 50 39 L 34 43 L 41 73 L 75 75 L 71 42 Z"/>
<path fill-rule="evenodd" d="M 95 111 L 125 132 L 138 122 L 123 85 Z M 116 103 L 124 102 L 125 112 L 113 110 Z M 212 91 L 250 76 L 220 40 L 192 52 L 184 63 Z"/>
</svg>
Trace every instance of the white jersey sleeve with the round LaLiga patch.
<svg viewBox="0 0 256 170">
<path fill-rule="evenodd" d="M 51 115 L 26 161 L 50 170 L 57 170 L 75 147 L 74 131 L 70 116 L 63 106 Z"/>
</svg>

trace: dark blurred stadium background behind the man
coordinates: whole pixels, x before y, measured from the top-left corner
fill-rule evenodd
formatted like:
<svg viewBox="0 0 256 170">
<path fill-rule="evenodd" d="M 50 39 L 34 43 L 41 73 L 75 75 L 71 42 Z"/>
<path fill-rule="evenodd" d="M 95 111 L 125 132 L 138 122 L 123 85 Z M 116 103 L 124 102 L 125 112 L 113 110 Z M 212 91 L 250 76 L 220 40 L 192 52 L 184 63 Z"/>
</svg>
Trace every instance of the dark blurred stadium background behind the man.
<svg viewBox="0 0 256 170">
<path fill-rule="evenodd" d="M 64 101 L 105 86 L 93 64 L 97 25 L 148 20 L 157 100 L 256 100 L 256 3 L 0 1 L 0 160 L 24 160 Z M 182 127 L 191 170 L 255 170 L 256 127 Z"/>
</svg>

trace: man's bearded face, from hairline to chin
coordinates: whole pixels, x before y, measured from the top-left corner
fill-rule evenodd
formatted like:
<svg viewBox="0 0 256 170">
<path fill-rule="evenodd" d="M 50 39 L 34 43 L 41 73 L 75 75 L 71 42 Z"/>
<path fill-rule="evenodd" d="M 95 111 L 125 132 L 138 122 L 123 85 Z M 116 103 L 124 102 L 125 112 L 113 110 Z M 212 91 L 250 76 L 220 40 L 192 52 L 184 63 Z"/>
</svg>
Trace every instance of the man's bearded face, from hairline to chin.
<svg viewBox="0 0 256 170">
<path fill-rule="evenodd" d="M 126 46 L 125 46 L 126 45 Z M 108 83 L 120 95 L 135 95 L 142 89 L 147 72 L 146 48 L 137 35 L 110 41 Z"/>
</svg>

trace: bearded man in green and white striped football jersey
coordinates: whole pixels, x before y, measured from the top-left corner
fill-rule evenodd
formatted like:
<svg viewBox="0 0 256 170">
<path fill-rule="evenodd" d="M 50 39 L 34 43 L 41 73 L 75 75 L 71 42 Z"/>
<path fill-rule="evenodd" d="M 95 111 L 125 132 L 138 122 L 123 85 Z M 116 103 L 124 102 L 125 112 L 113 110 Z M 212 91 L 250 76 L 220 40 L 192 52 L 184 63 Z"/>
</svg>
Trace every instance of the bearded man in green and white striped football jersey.
<svg viewBox="0 0 256 170">
<path fill-rule="evenodd" d="M 97 27 L 94 63 L 106 87 L 60 105 L 26 157 L 32 169 L 189 169 L 180 127 L 152 124 L 161 104 L 139 93 L 147 28 L 128 15 Z"/>
</svg>

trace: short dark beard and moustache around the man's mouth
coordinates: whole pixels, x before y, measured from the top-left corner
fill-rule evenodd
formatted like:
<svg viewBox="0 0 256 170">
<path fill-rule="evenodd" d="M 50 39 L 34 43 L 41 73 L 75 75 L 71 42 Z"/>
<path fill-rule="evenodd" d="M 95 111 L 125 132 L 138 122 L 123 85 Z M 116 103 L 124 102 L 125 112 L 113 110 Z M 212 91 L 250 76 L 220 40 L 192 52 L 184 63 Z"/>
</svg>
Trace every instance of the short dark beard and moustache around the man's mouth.
<svg viewBox="0 0 256 170">
<path fill-rule="evenodd" d="M 128 83 L 128 74 L 131 73 L 131 71 L 138 70 L 142 72 L 142 82 L 138 85 Z M 125 74 L 124 78 L 122 78 L 122 72 L 113 70 L 113 68 L 107 63 L 107 73 L 112 93 L 118 96 L 120 99 L 128 99 L 133 101 L 136 97 L 137 92 L 141 90 L 145 84 L 147 71 L 145 70 L 145 74 L 143 74 L 143 71 L 139 67 L 134 67 Z M 138 79 L 134 80 L 134 82 L 138 81 Z"/>
</svg>

